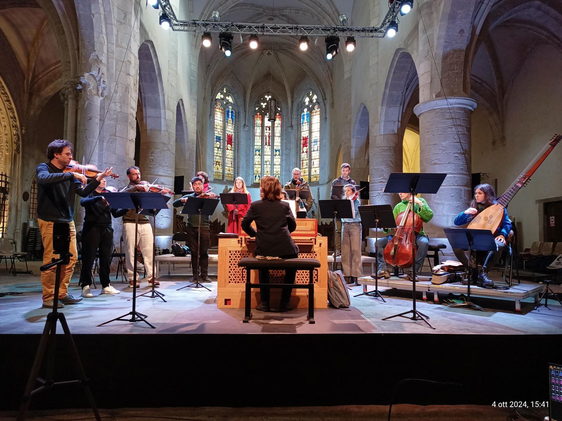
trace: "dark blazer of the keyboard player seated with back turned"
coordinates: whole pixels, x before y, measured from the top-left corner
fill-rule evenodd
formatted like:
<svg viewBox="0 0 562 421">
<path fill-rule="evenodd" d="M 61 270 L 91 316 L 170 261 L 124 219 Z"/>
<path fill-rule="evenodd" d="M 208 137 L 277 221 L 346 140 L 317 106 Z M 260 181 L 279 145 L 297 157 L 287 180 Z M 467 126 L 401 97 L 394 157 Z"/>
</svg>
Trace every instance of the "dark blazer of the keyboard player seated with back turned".
<svg viewBox="0 0 562 421">
<path fill-rule="evenodd" d="M 256 221 L 257 232 L 250 225 Z M 279 257 L 298 253 L 298 246 L 291 238 L 297 223 L 289 204 L 275 200 L 256 200 L 242 219 L 242 229 L 250 237 L 256 237 L 255 255 Z"/>
</svg>

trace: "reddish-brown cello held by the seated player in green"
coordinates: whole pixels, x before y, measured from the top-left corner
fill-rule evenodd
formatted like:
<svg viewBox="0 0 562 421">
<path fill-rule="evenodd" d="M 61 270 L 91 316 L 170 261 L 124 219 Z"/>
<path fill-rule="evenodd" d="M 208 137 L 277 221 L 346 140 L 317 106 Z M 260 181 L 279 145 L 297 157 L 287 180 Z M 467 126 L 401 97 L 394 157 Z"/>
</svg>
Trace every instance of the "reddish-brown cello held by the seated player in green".
<svg viewBox="0 0 562 421">
<path fill-rule="evenodd" d="M 406 210 L 396 216 L 394 236 L 384 248 L 384 261 L 392 266 L 407 268 L 413 264 L 412 249 L 415 249 L 416 245 L 412 230 L 412 218 L 414 218 L 415 232 L 422 231 L 422 218 L 414 212 L 412 202 L 409 202 Z"/>
</svg>

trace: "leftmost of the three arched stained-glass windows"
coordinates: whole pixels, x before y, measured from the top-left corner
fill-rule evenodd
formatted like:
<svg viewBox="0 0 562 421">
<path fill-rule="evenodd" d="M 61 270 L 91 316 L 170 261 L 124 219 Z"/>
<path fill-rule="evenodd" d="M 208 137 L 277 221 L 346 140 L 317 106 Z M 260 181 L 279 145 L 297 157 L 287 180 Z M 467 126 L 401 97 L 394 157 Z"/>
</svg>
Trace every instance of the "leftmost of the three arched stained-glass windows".
<svg viewBox="0 0 562 421">
<path fill-rule="evenodd" d="M 223 86 L 214 97 L 212 107 L 213 178 L 234 180 L 234 153 L 237 113 L 232 93 Z"/>
</svg>

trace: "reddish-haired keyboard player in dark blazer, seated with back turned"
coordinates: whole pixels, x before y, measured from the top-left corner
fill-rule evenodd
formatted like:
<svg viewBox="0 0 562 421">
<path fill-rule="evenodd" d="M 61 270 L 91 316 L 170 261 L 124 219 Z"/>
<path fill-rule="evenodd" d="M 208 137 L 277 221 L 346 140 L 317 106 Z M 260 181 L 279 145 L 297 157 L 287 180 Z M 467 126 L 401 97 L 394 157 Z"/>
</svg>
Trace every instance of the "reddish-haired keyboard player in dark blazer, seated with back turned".
<svg viewBox="0 0 562 421">
<path fill-rule="evenodd" d="M 277 177 L 265 176 L 260 183 L 260 198 L 250 205 L 248 213 L 242 219 L 242 230 L 250 237 L 256 237 L 256 258 L 296 259 L 298 246 L 291 238 L 291 232 L 297 228 L 293 212 L 287 202 L 282 202 L 281 183 Z M 251 226 L 255 221 L 257 232 Z M 285 270 L 283 283 L 294 283 L 296 270 Z M 260 269 L 260 283 L 269 283 L 269 271 Z M 292 288 L 283 288 L 279 312 L 292 310 L 289 306 Z M 269 312 L 269 288 L 260 289 L 261 303 L 256 310 Z"/>
</svg>

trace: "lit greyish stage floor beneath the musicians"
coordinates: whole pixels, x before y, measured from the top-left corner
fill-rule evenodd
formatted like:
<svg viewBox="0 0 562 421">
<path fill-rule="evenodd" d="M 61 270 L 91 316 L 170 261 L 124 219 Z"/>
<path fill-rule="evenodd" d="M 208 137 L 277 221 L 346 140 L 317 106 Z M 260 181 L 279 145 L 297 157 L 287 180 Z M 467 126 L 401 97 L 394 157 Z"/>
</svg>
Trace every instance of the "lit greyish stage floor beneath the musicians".
<svg viewBox="0 0 562 421">
<path fill-rule="evenodd" d="M 21 263 L 20 263 L 21 266 Z M 2 271 L 0 293 L 21 292 L 0 298 L 0 333 L 40 333 L 48 309 L 41 308 L 39 262 L 30 262 L 34 274 L 18 274 L 13 277 Z M 20 268 L 21 270 L 21 268 Z M 176 265 L 176 273 L 187 273 L 188 268 Z M 164 271 L 163 271 L 164 272 Z M 166 268 L 167 272 L 167 268 Z M 164 272 L 164 273 L 166 273 Z M 212 273 L 212 270 L 211 270 Z M 126 314 L 130 311 L 132 289 L 126 283 L 112 282 L 119 295 L 98 295 L 76 305 L 66 306 L 64 313 L 72 333 L 481 333 L 481 334 L 559 334 L 562 333 L 562 308 L 551 305 L 533 310 L 532 298 L 522 303 L 522 312 L 515 313 L 513 301 L 474 299 L 487 309 L 477 312 L 468 309 L 452 309 L 429 301 L 416 301 L 416 308 L 430 317 L 436 330 L 430 330 L 421 321 L 405 318 L 382 321 L 389 315 L 411 309 L 411 293 L 392 291 L 383 303 L 372 297 L 352 298 L 349 309 L 317 309 L 316 324 L 306 322 L 306 310 L 298 309 L 280 315 L 254 311 L 251 323 L 243 324 L 243 309 L 217 309 L 216 281 L 206 284 L 211 291 L 185 289 L 187 277 L 161 276 L 159 291 L 166 294 L 167 303 L 161 300 L 138 298 L 137 310 L 148 315 L 155 324 L 150 329 L 142 322 L 113 322 L 103 327 L 97 324 Z M 140 293 L 148 290 L 142 283 Z M 362 287 L 355 286 L 350 295 L 359 294 Z M 383 289 L 381 289 L 383 290 Z M 78 276 L 72 278 L 70 294 L 79 295 Z M 421 298 L 421 295 L 420 295 Z M 446 296 L 443 296 L 446 298 Z"/>
</svg>

